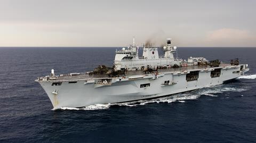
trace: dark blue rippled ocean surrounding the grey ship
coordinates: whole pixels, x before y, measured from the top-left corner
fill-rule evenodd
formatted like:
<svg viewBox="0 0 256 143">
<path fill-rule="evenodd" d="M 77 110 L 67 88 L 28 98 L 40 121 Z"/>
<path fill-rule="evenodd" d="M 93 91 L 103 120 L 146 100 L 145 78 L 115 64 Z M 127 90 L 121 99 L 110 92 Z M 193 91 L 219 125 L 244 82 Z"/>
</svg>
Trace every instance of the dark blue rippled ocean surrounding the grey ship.
<svg viewBox="0 0 256 143">
<path fill-rule="evenodd" d="M 224 85 L 84 108 L 53 106 L 34 80 L 112 65 L 114 47 L 0 48 L 0 142 L 255 142 L 256 48 L 181 47 L 178 56 L 249 64 Z"/>
</svg>

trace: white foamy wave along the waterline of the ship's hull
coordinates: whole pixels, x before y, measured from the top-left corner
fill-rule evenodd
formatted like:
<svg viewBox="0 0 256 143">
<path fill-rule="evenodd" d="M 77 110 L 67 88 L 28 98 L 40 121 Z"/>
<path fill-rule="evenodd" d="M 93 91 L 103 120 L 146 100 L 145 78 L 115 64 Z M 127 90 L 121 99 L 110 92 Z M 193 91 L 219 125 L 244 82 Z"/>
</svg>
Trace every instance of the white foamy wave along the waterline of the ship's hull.
<svg viewBox="0 0 256 143">
<path fill-rule="evenodd" d="M 227 85 L 219 85 L 214 87 L 207 87 L 202 88 L 196 91 L 191 92 L 185 92 L 182 94 L 175 94 L 169 97 L 159 97 L 155 99 L 149 99 L 149 100 L 138 100 L 135 102 L 126 102 L 126 103 L 113 103 L 113 104 L 94 104 L 82 108 L 72 108 L 72 107 L 60 107 L 60 108 L 54 108 L 53 110 L 107 110 L 111 106 L 142 106 L 150 103 L 172 103 L 172 102 L 180 102 L 185 103 L 186 100 L 195 100 L 198 99 L 201 96 L 210 96 L 210 97 L 217 97 L 216 94 L 221 94 L 223 92 L 242 92 L 247 89 L 244 88 L 236 88 L 236 87 L 230 87 Z"/>
</svg>

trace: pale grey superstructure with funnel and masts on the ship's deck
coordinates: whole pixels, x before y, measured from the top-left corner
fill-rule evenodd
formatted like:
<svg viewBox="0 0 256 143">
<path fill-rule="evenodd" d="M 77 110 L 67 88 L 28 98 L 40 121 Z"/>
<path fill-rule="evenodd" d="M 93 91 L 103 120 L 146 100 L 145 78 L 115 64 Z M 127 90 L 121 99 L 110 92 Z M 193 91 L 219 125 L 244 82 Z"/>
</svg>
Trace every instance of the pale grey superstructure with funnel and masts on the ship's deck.
<svg viewBox="0 0 256 143">
<path fill-rule="evenodd" d="M 167 46 L 163 47 L 165 54 L 164 57 L 159 57 L 158 48 L 156 47 L 143 47 L 142 57 L 138 55 L 138 48 L 133 44 L 132 47 L 123 48 L 121 51 L 116 51 L 115 56 L 115 69 L 116 70 L 143 70 L 148 65 L 152 68 L 157 66 L 173 66 L 174 64 L 181 65 L 182 60 L 174 59 L 173 54 L 176 52 L 177 47 L 171 47 L 171 39 L 167 40 Z"/>
</svg>

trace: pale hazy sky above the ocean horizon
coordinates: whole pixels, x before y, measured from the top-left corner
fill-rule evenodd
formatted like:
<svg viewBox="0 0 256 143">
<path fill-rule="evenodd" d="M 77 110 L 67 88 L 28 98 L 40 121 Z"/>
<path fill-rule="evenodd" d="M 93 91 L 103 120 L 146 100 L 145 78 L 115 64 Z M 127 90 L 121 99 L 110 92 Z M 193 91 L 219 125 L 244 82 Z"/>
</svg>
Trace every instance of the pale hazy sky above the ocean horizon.
<svg viewBox="0 0 256 143">
<path fill-rule="evenodd" d="M 0 0 L 0 46 L 256 47 L 256 1 Z"/>
</svg>

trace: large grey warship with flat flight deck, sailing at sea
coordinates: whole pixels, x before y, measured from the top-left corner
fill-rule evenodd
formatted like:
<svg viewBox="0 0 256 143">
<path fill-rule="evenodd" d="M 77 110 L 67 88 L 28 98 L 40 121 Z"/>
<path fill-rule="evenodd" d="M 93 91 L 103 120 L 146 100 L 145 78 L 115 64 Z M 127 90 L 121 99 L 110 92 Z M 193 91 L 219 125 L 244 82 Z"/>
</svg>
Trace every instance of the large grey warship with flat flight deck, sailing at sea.
<svg viewBox="0 0 256 143">
<path fill-rule="evenodd" d="M 204 87 L 220 85 L 249 71 L 238 59 L 230 63 L 208 61 L 204 57 L 182 60 L 174 53 L 172 39 L 166 39 L 159 56 L 157 47 L 133 45 L 116 50 L 114 65 L 99 65 L 91 72 L 38 77 L 54 108 L 85 107 L 94 104 L 124 103 L 171 96 Z M 176 55 L 176 54 L 175 54 Z"/>
</svg>

